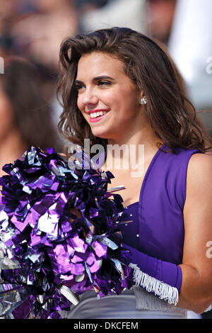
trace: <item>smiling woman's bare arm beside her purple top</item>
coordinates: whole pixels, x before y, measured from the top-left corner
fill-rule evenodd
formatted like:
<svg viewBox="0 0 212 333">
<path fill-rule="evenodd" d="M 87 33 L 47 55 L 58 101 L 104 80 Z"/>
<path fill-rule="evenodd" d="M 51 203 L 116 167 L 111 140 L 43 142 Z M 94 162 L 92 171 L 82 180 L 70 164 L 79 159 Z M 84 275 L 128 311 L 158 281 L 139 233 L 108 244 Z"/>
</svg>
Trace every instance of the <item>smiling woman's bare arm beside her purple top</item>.
<svg viewBox="0 0 212 333">
<path fill-rule="evenodd" d="M 212 303 L 212 157 L 194 154 L 187 169 L 182 288 L 178 305 L 202 313 Z M 209 243 L 210 244 L 210 243 Z"/>
</svg>

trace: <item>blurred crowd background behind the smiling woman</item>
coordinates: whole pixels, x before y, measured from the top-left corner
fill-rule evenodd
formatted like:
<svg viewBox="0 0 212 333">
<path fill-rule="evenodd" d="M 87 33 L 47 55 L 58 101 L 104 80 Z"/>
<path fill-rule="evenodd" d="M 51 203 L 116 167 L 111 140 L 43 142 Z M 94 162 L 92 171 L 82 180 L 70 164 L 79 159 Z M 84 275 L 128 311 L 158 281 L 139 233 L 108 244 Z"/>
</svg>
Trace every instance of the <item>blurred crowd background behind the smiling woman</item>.
<svg viewBox="0 0 212 333">
<path fill-rule="evenodd" d="M 211 24 L 211 0 L 0 0 L 0 167 L 31 145 L 63 151 L 59 45 L 97 28 L 133 28 L 163 45 L 212 137 Z"/>
</svg>

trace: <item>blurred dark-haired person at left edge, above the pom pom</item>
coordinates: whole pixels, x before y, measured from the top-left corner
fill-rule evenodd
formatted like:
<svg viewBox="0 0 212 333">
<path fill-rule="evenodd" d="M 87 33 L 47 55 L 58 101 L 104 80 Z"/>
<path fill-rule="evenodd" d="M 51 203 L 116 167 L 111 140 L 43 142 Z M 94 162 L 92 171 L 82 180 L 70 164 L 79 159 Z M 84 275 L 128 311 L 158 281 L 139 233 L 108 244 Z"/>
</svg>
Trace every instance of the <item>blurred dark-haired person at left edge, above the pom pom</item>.
<svg viewBox="0 0 212 333">
<path fill-rule="evenodd" d="M 0 176 L 31 146 L 62 151 L 51 110 L 42 96 L 40 77 L 28 60 L 8 58 L 0 75 Z"/>
</svg>

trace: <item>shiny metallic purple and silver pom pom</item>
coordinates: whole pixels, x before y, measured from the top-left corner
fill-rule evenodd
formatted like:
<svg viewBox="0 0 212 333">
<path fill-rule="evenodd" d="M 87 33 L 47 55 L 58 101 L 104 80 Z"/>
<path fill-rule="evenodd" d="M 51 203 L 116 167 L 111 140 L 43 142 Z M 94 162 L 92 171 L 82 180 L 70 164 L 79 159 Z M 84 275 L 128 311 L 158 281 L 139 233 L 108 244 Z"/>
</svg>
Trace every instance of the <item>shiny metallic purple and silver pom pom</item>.
<svg viewBox="0 0 212 333">
<path fill-rule="evenodd" d="M 107 191 L 109 171 L 85 153 L 68 164 L 35 147 L 3 169 L 0 316 L 59 318 L 86 290 L 103 297 L 131 287 L 117 229 L 122 197 Z"/>
</svg>

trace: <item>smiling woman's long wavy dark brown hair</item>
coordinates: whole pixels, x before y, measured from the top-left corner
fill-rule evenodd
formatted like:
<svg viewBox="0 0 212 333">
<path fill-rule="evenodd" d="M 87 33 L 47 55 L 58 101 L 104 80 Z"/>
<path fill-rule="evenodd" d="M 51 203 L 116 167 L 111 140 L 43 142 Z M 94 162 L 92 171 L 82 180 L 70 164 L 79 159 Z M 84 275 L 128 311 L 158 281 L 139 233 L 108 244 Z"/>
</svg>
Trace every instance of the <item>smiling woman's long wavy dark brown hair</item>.
<svg viewBox="0 0 212 333">
<path fill-rule="evenodd" d="M 130 28 L 101 29 L 67 38 L 61 44 L 57 86 L 57 96 L 64 108 L 59 121 L 61 135 L 82 147 L 84 138 L 89 138 L 92 144 L 107 145 L 106 139 L 92 134 L 76 103 L 74 80 L 78 61 L 91 52 L 105 52 L 123 62 L 126 75 L 148 100 L 144 109 L 151 128 L 171 152 L 175 147 L 201 152 L 211 149 L 206 147 L 206 142 L 212 144 L 211 139 L 180 88 L 167 54 L 146 35 Z"/>
</svg>

